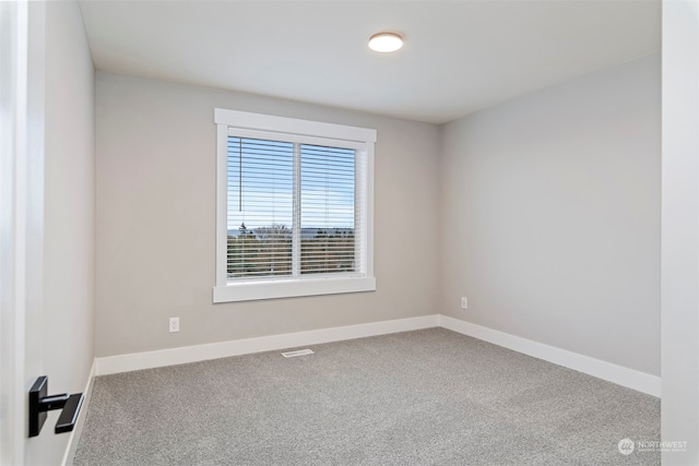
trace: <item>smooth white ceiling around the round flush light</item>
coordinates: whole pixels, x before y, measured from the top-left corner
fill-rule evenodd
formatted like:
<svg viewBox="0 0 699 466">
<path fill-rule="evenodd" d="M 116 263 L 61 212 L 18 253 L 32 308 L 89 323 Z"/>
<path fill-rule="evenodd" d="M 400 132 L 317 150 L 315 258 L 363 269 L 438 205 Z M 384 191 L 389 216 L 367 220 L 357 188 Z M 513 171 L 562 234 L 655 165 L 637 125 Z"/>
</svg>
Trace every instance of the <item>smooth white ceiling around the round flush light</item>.
<svg viewBox="0 0 699 466">
<path fill-rule="evenodd" d="M 660 0 L 81 0 L 95 67 L 442 123 L 660 50 Z M 377 53 L 369 36 L 405 37 Z"/>
</svg>

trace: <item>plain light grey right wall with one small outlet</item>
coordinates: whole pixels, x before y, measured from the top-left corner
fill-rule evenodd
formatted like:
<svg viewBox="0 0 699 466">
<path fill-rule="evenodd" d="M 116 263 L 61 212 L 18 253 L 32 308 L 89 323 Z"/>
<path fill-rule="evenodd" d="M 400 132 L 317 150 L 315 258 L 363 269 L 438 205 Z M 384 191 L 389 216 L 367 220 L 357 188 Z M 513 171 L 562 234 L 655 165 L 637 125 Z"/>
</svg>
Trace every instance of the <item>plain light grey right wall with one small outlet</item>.
<svg viewBox="0 0 699 466">
<path fill-rule="evenodd" d="M 660 374 L 660 74 L 653 55 L 442 128 L 442 313 Z"/>
</svg>

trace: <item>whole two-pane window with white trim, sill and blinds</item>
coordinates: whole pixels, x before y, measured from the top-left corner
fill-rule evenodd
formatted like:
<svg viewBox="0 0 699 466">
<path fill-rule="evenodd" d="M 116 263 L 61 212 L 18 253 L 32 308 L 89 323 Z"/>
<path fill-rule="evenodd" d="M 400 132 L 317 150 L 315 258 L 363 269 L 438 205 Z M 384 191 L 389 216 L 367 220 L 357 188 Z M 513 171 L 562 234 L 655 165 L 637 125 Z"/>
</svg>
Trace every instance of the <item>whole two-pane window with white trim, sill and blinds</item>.
<svg viewBox="0 0 699 466">
<path fill-rule="evenodd" d="M 376 130 L 216 109 L 214 302 L 376 289 Z"/>
</svg>

